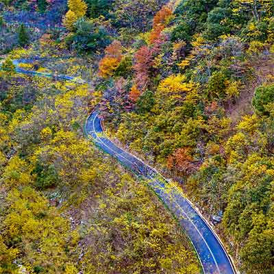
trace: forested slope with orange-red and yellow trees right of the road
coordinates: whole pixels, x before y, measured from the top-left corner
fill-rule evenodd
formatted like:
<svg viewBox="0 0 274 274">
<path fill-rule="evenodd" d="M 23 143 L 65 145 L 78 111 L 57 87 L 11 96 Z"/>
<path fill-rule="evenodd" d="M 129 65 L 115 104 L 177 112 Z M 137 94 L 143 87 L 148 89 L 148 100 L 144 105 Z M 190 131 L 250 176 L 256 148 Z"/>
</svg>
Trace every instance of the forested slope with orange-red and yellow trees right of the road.
<svg viewBox="0 0 274 274">
<path fill-rule="evenodd" d="M 112 134 L 182 183 L 246 273 L 273 273 L 273 1 L 181 1 L 99 62 Z"/>
</svg>

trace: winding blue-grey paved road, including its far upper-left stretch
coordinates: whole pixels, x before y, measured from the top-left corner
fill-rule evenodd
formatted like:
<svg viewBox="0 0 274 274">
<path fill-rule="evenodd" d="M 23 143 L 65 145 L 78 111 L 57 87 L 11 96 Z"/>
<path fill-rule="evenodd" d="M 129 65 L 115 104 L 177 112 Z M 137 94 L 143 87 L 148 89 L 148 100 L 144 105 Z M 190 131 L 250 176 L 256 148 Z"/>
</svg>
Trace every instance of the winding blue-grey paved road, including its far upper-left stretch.
<svg viewBox="0 0 274 274">
<path fill-rule="evenodd" d="M 13 60 L 18 73 L 38 75 L 40 77 L 57 77 L 69 81 L 77 81 L 74 77 L 66 75 L 53 75 L 50 73 L 37 73 L 36 71 L 26 71 L 18 67 L 19 62 L 27 63 L 28 60 Z M 29 62 L 32 62 L 29 60 Z M 106 153 L 119 160 L 123 166 L 147 179 L 147 184 L 162 200 L 167 208 L 175 216 L 182 229 L 190 238 L 201 266 L 205 274 L 236 274 L 225 248 L 221 244 L 218 236 L 214 234 L 210 225 L 195 210 L 190 201 L 176 186 L 164 179 L 160 173 L 151 166 L 136 158 L 136 156 L 117 147 L 103 132 L 101 118 L 97 111 L 92 112 L 86 120 L 86 134 Z"/>
</svg>

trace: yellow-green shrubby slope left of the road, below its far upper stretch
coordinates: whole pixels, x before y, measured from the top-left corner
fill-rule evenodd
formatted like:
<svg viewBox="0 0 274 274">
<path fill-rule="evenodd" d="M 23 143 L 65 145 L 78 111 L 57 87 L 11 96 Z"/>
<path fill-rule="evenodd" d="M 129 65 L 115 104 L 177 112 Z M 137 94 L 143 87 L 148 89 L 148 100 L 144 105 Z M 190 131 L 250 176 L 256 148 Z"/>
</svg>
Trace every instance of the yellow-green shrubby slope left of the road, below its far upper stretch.
<svg viewBox="0 0 274 274">
<path fill-rule="evenodd" d="M 199 273 L 162 203 L 84 138 L 86 85 L 0 77 L 1 273 Z"/>
</svg>

